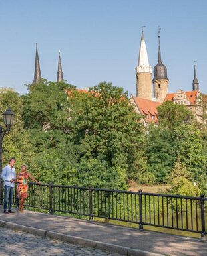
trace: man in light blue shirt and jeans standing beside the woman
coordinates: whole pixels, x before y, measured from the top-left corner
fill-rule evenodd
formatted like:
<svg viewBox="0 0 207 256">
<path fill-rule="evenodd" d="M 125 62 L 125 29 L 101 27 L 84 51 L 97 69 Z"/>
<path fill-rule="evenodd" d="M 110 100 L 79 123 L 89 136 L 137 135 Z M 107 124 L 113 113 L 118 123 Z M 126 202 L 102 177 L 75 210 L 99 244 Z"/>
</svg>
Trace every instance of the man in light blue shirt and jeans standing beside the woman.
<svg viewBox="0 0 207 256">
<path fill-rule="evenodd" d="M 12 157 L 9 159 L 9 164 L 3 168 L 1 178 L 4 181 L 4 202 L 3 202 L 3 213 L 14 213 L 11 210 L 11 204 L 13 199 L 13 188 L 15 186 L 14 182 L 16 180 L 16 171 L 13 167 L 15 165 L 16 159 Z M 7 212 L 7 203 L 9 200 L 9 210 Z"/>
</svg>

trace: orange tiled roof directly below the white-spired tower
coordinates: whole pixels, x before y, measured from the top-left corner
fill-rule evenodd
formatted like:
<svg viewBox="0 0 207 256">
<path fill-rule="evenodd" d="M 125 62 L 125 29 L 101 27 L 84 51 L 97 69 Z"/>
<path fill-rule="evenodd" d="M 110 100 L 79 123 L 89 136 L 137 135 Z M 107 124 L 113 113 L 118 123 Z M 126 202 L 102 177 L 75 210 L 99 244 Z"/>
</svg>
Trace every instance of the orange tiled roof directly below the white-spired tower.
<svg viewBox="0 0 207 256">
<path fill-rule="evenodd" d="M 158 121 L 157 107 L 162 103 L 158 103 L 157 101 L 150 101 L 148 99 L 142 99 L 136 96 L 132 96 L 132 97 L 134 99 L 134 102 L 136 103 L 136 106 L 140 111 L 140 114 L 144 115 L 144 119 L 146 121 L 153 121 L 153 122 Z M 148 115 L 148 118 L 145 118 L 146 115 Z M 154 119 L 152 119 L 152 116 L 154 116 Z"/>
</svg>

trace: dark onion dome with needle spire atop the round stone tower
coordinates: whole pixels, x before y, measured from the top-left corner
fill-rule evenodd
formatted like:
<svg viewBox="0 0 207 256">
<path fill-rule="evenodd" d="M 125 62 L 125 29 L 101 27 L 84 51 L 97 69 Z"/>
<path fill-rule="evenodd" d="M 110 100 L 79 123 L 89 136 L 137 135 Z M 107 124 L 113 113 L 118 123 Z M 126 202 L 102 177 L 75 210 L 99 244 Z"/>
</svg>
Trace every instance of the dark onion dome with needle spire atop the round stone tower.
<svg viewBox="0 0 207 256">
<path fill-rule="evenodd" d="M 162 64 L 161 60 L 161 52 L 160 52 L 160 30 L 161 28 L 158 27 L 158 64 L 154 67 L 154 80 L 157 79 L 167 79 L 167 68 Z"/>
</svg>

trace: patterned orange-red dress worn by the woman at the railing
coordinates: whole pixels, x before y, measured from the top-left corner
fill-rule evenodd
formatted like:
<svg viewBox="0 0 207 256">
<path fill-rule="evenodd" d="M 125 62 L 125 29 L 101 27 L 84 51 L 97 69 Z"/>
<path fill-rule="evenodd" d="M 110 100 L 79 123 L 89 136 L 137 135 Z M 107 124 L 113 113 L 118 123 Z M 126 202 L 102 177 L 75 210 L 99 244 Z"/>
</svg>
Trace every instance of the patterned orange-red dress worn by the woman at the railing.
<svg viewBox="0 0 207 256">
<path fill-rule="evenodd" d="M 19 172 L 17 174 L 17 197 L 18 198 L 27 198 L 28 190 L 28 174 L 27 172 Z"/>
</svg>

